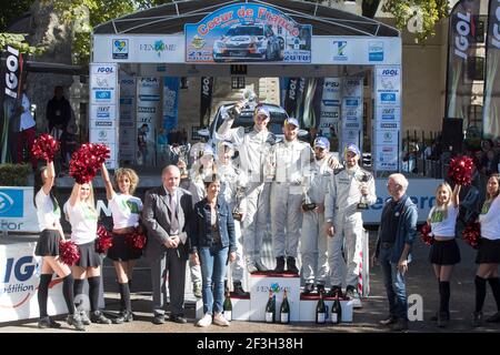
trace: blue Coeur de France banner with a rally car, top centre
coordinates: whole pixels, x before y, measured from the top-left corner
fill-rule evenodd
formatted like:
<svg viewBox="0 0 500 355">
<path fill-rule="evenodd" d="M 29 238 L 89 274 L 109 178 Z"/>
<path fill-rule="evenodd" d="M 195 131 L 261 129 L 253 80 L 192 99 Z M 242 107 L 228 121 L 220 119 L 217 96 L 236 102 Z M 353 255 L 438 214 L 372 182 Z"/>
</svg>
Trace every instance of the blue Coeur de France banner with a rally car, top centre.
<svg viewBox="0 0 500 355">
<path fill-rule="evenodd" d="M 220 8 L 184 33 L 187 62 L 311 62 L 312 27 L 262 3 Z"/>
</svg>

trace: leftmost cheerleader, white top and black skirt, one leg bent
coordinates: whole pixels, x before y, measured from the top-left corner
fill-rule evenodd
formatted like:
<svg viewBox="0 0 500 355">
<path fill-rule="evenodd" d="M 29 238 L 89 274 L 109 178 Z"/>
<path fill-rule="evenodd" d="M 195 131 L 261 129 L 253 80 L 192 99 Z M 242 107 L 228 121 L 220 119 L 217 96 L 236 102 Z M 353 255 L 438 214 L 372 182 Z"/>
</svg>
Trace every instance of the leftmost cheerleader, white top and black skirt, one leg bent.
<svg viewBox="0 0 500 355">
<path fill-rule="evenodd" d="M 47 301 L 49 298 L 49 285 L 52 274 L 62 278 L 62 294 L 68 306 L 68 324 L 74 325 L 78 331 L 84 331 L 80 315 L 74 307 L 73 276 L 68 265 L 59 260 L 59 241 L 64 241 L 64 233 L 60 223 L 61 209 L 53 194 L 56 171 L 52 161 L 47 161 L 47 166 L 40 169 L 34 175 L 34 206 L 40 226 L 40 237 L 34 250 L 34 255 L 42 256 L 40 284 L 38 286 L 38 306 L 40 328 L 59 328 L 61 325 L 49 317 Z"/>
</svg>

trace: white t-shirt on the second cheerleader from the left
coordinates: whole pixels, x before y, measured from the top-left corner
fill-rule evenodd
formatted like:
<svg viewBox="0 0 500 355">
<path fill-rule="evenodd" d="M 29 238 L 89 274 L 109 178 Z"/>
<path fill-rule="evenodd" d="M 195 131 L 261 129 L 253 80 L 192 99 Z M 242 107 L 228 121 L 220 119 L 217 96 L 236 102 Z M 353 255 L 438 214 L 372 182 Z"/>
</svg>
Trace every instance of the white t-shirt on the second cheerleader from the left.
<svg viewBox="0 0 500 355">
<path fill-rule="evenodd" d="M 81 202 L 71 206 L 69 201 L 62 209 L 71 224 L 71 242 L 81 245 L 90 243 L 97 237 L 98 214 L 96 210 Z"/>
</svg>

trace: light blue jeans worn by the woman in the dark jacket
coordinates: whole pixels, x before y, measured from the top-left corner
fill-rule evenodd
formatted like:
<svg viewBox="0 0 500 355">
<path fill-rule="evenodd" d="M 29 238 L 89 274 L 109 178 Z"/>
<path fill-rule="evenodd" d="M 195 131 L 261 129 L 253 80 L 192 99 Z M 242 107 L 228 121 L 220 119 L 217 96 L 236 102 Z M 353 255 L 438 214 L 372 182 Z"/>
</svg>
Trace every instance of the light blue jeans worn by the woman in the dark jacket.
<svg viewBox="0 0 500 355">
<path fill-rule="evenodd" d="M 229 246 L 213 245 L 199 247 L 201 263 L 203 313 L 222 313 L 224 301 L 224 276 L 229 257 Z M 212 290 L 213 284 L 213 290 Z"/>
</svg>

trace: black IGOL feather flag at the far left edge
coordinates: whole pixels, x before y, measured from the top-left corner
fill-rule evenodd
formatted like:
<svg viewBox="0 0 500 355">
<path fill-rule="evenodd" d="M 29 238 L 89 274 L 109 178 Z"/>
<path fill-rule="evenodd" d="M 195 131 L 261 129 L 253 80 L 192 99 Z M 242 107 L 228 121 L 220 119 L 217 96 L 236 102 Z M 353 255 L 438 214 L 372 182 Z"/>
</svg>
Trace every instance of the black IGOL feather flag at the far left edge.
<svg viewBox="0 0 500 355">
<path fill-rule="evenodd" d="M 20 129 L 20 115 L 13 114 L 21 104 L 23 58 L 16 48 L 7 45 L 1 55 L 0 74 L 0 132 L 1 163 L 17 160 L 17 134 Z"/>
</svg>

